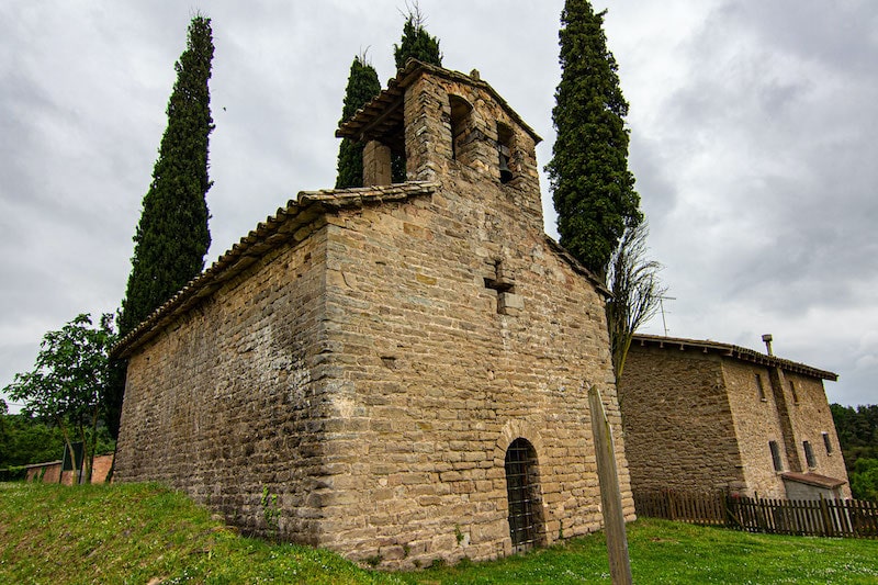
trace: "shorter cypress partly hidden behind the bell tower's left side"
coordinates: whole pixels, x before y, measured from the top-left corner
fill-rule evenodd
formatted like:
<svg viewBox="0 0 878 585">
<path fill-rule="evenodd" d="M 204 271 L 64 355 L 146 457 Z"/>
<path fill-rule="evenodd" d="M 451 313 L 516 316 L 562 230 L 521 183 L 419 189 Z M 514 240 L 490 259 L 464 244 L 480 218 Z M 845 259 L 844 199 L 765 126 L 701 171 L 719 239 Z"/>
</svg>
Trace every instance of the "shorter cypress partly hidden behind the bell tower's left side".
<svg viewBox="0 0 878 585">
<path fill-rule="evenodd" d="M 375 68 L 365 63 L 365 55 L 358 55 L 350 65 L 348 87 L 345 89 L 345 103 L 341 121 L 351 117 L 357 110 L 369 103 L 381 92 Z M 363 185 L 363 144 L 342 138 L 338 147 L 338 177 L 336 189 Z"/>
</svg>

